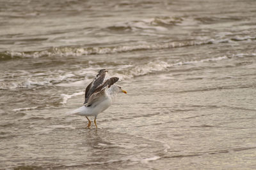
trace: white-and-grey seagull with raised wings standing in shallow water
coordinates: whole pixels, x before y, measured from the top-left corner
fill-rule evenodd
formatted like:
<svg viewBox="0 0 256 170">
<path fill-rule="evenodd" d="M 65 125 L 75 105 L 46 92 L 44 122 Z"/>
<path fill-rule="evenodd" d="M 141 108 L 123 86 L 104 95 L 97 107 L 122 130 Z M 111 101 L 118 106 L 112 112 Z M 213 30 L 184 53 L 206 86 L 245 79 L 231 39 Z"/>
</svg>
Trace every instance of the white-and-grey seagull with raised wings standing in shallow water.
<svg viewBox="0 0 256 170">
<path fill-rule="evenodd" d="M 92 124 L 88 116 L 94 116 L 94 124 L 95 127 L 98 128 L 96 124 L 97 115 L 109 108 L 115 101 L 116 94 L 119 92 L 127 94 L 120 86 L 114 85 L 119 78 L 113 76 L 105 80 L 106 73 L 108 73 L 108 70 L 100 69 L 97 76 L 95 76 L 93 81 L 86 87 L 83 106 L 71 112 L 71 114 L 74 115 L 85 116 L 88 120 L 86 127 L 88 129 L 90 129 Z"/>
</svg>

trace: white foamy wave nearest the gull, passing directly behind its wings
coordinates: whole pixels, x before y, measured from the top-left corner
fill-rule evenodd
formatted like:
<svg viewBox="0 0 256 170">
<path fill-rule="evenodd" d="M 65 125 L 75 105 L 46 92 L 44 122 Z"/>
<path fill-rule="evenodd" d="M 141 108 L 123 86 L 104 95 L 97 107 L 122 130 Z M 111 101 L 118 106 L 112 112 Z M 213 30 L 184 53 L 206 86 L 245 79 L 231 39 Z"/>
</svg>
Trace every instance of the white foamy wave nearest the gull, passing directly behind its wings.
<svg viewBox="0 0 256 170">
<path fill-rule="evenodd" d="M 255 55 L 255 53 L 252 53 Z M 246 57 L 249 56 L 248 54 L 239 54 L 234 55 L 231 57 Z M 144 76 L 147 74 L 152 73 L 159 73 L 163 71 L 168 71 L 172 67 L 188 65 L 188 64 L 196 64 L 202 62 L 214 62 L 218 60 L 225 60 L 229 59 L 230 57 L 222 56 L 222 57 L 214 57 L 209 59 L 202 59 L 202 60 L 188 60 L 184 62 L 175 62 L 175 63 L 168 63 L 161 60 L 150 61 L 147 64 L 139 64 L 139 65 L 129 65 L 120 67 L 115 70 L 109 70 L 109 75 L 111 76 L 118 76 L 120 81 L 127 80 L 130 78 L 136 78 L 138 76 Z M 8 81 L 8 82 L 0 82 L 0 90 L 15 90 L 15 89 L 35 89 L 37 87 L 51 87 L 51 86 L 62 86 L 62 87 L 84 87 L 87 81 L 92 80 L 92 77 L 97 74 L 97 69 L 93 70 L 84 68 L 80 69 L 79 71 L 74 71 L 73 73 L 67 73 L 63 75 L 56 75 L 56 74 L 48 74 L 45 75 L 44 78 L 31 77 L 29 80 L 20 80 L 17 81 Z M 84 75 L 86 75 L 84 77 Z M 51 77 L 51 78 L 50 78 Z M 78 92 L 72 95 L 61 94 L 61 104 L 67 103 L 67 100 L 70 97 L 81 95 L 82 92 Z"/>
</svg>

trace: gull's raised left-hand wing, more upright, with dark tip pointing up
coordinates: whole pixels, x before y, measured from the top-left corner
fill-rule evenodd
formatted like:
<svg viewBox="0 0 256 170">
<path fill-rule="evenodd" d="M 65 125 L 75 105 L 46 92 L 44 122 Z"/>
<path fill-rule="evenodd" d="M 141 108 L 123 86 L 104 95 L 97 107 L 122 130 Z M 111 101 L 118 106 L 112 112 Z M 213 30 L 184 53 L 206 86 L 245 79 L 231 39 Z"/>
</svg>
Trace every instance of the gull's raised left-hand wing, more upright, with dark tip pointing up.
<svg viewBox="0 0 256 170">
<path fill-rule="evenodd" d="M 84 95 L 84 104 L 87 103 L 89 97 L 93 94 L 95 89 L 97 89 L 97 87 L 102 85 L 107 72 L 108 71 L 106 69 L 100 69 L 99 73 L 94 78 L 94 80 L 86 87 L 85 95 Z"/>
</svg>

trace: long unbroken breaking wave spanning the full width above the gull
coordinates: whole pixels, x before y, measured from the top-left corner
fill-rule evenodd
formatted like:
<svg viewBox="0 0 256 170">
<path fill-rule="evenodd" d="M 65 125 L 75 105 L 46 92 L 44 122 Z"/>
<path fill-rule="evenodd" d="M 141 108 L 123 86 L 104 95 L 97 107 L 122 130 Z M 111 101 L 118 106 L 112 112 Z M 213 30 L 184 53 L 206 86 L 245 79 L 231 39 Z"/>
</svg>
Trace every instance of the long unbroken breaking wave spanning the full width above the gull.
<svg viewBox="0 0 256 170">
<path fill-rule="evenodd" d="M 138 45 L 119 45 L 119 46 L 60 46 L 49 48 L 38 52 L 0 52 L 0 60 L 8 60 L 15 58 L 38 58 L 38 57 L 50 57 L 50 56 L 74 56 L 79 57 L 82 55 L 97 55 L 97 54 L 108 54 L 108 53 L 123 53 L 132 52 L 136 50 L 160 50 L 165 48 L 179 48 L 184 46 L 195 46 L 195 45 L 209 45 L 218 43 L 230 43 L 232 41 L 252 41 L 256 37 L 253 36 L 236 36 L 234 38 L 221 38 L 221 39 L 208 39 L 205 41 L 172 41 L 165 43 L 142 43 Z"/>
</svg>

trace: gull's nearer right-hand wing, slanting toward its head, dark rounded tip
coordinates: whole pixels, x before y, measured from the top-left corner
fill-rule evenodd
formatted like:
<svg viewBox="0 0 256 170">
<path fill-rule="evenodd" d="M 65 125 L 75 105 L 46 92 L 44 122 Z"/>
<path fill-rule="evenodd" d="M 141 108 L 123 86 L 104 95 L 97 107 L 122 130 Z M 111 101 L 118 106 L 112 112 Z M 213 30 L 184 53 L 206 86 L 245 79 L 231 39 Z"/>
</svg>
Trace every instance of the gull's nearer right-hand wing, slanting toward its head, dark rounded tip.
<svg viewBox="0 0 256 170">
<path fill-rule="evenodd" d="M 100 85 L 97 89 L 95 89 L 93 94 L 88 98 L 88 101 L 85 106 L 90 106 L 93 103 L 100 101 L 100 97 L 104 96 L 105 90 L 111 87 L 111 85 L 116 83 L 116 81 L 118 80 L 119 80 L 118 77 L 111 77 L 108 80 L 104 81 L 104 83 L 102 83 L 102 85 Z"/>
</svg>

